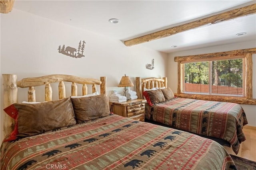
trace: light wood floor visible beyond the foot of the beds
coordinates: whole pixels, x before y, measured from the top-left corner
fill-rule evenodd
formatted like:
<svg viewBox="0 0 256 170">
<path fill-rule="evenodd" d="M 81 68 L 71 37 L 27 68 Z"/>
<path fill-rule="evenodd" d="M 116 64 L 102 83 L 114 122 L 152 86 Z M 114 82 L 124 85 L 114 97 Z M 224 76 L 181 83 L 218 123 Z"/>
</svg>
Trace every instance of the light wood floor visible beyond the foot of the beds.
<svg viewBox="0 0 256 170">
<path fill-rule="evenodd" d="M 245 125 L 243 131 L 246 137 L 246 141 L 242 142 L 242 147 L 240 147 L 238 154 L 234 154 L 230 148 L 227 149 L 225 147 L 225 149 L 230 154 L 256 162 L 256 127 Z"/>
</svg>

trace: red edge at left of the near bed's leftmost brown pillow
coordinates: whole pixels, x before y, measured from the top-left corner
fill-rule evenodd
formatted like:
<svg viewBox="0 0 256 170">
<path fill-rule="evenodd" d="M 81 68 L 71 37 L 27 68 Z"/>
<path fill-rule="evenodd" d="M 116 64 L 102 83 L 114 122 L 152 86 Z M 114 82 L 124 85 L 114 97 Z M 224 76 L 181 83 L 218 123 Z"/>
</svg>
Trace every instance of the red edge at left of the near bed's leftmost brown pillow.
<svg viewBox="0 0 256 170">
<path fill-rule="evenodd" d="M 7 141 L 13 141 L 16 139 L 16 136 L 19 134 L 18 133 L 18 110 L 14 107 L 14 104 L 6 107 L 4 111 L 13 119 L 15 119 L 15 126 L 14 126 L 14 131 L 10 134 L 10 137 L 8 139 L 5 139 L 4 142 Z"/>
</svg>

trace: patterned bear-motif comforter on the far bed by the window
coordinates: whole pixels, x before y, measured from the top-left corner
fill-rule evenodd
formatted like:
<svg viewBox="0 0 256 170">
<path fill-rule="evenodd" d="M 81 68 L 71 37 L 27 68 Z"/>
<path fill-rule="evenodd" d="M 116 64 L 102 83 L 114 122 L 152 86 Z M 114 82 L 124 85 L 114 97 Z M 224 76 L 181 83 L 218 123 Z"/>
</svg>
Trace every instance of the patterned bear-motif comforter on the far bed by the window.
<svg viewBox="0 0 256 170">
<path fill-rule="evenodd" d="M 237 154 L 245 141 L 242 131 L 247 119 L 239 104 L 174 98 L 168 102 L 146 106 L 145 118 L 188 131 L 228 141 Z"/>
</svg>

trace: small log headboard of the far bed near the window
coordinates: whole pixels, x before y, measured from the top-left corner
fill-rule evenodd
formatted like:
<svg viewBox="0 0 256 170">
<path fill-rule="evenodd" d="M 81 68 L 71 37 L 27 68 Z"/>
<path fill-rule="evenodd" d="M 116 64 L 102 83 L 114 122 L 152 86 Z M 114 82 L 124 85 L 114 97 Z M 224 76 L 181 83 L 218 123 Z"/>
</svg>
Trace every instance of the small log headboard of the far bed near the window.
<svg viewBox="0 0 256 170">
<path fill-rule="evenodd" d="M 163 78 L 140 78 L 136 77 L 136 92 L 139 99 L 143 99 L 142 93 L 144 88 L 151 89 L 154 87 L 167 87 L 167 77 Z"/>
</svg>

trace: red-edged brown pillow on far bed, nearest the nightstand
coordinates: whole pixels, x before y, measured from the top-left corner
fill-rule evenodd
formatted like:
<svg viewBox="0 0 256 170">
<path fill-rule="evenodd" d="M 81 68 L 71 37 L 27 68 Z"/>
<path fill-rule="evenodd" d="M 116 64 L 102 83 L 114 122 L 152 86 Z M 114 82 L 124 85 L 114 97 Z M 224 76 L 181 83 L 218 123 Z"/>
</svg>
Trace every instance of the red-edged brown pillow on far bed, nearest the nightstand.
<svg viewBox="0 0 256 170">
<path fill-rule="evenodd" d="M 142 94 L 150 106 L 165 102 L 164 94 L 160 89 L 144 91 Z"/>
</svg>

